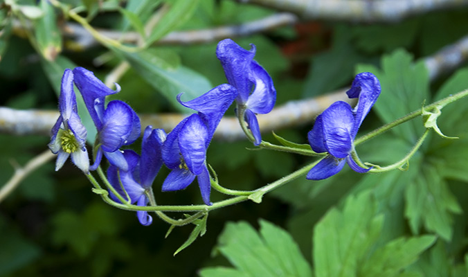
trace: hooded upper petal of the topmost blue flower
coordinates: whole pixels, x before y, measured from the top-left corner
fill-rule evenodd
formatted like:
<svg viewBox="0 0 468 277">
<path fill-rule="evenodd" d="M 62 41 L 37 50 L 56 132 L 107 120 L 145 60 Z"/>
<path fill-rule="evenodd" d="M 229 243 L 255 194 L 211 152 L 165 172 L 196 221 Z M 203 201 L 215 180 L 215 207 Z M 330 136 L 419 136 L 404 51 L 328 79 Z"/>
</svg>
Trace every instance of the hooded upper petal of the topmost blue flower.
<svg viewBox="0 0 468 277">
<path fill-rule="evenodd" d="M 252 82 L 248 72 L 255 56 L 255 46 L 251 44 L 251 51 L 247 51 L 233 40 L 224 39 L 217 45 L 216 56 L 223 66 L 229 84 L 239 91 L 237 102 L 244 104 L 251 93 Z"/>
</svg>

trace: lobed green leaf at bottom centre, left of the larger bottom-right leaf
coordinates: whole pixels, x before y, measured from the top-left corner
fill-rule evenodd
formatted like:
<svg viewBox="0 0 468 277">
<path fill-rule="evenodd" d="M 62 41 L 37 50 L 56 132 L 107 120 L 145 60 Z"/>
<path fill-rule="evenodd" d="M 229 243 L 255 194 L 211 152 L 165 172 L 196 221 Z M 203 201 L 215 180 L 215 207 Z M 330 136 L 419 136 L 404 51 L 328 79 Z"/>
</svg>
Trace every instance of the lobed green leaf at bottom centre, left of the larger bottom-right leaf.
<svg viewBox="0 0 468 277">
<path fill-rule="evenodd" d="M 230 222 L 218 240 L 217 248 L 235 269 L 205 268 L 201 276 L 312 276 L 291 235 L 267 221 L 260 220 L 260 233 L 246 222 Z"/>
</svg>

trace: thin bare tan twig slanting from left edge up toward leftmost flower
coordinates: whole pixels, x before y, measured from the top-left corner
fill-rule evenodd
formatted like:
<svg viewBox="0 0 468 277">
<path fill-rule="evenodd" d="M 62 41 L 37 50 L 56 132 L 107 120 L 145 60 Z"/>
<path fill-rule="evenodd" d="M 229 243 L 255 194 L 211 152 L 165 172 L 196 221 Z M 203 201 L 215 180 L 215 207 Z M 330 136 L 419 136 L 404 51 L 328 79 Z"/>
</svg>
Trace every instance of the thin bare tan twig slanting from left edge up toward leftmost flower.
<svg viewBox="0 0 468 277">
<path fill-rule="evenodd" d="M 46 150 L 39 154 L 37 157 L 34 157 L 23 168 L 15 167 L 15 174 L 6 182 L 4 186 L 0 189 L 0 203 L 5 199 L 10 193 L 12 193 L 15 188 L 26 178 L 31 172 L 44 165 L 51 159 L 55 157 L 55 154 L 51 150 Z"/>
</svg>

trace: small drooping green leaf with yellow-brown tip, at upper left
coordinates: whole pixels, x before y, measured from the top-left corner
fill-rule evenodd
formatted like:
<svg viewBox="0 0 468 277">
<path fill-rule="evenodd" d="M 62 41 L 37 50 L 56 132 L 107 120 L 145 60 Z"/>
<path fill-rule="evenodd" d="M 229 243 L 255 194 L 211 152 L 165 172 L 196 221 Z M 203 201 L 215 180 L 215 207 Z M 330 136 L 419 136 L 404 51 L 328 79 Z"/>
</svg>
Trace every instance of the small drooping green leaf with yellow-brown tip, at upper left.
<svg viewBox="0 0 468 277">
<path fill-rule="evenodd" d="M 55 10 L 51 3 L 41 1 L 40 7 L 42 12 L 44 12 L 44 16 L 34 24 L 37 45 L 42 56 L 46 60 L 53 61 L 60 51 L 62 51 L 62 35 L 60 34 Z"/>
</svg>

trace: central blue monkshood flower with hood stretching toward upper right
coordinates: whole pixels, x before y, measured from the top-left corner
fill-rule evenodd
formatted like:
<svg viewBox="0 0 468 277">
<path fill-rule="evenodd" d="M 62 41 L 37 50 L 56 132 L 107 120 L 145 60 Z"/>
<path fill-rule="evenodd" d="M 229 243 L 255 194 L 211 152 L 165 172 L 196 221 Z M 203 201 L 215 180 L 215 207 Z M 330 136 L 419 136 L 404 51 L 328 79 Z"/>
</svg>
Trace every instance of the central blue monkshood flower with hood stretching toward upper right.
<svg viewBox="0 0 468 277">
<path fill-rule="evenodd" d="M 163 183 L 163 191 L 183 190 L 197 177 L 201 198 L 210 205 L 210 175 L 206 167 L 206 150 L 222 116 L 237 96 L 229 84 L 221 84 L 202 96 L 182 102 L 195 109 L 168 134 L 162 148 L 165 165 L 172 171 Z"/>
</svg>

